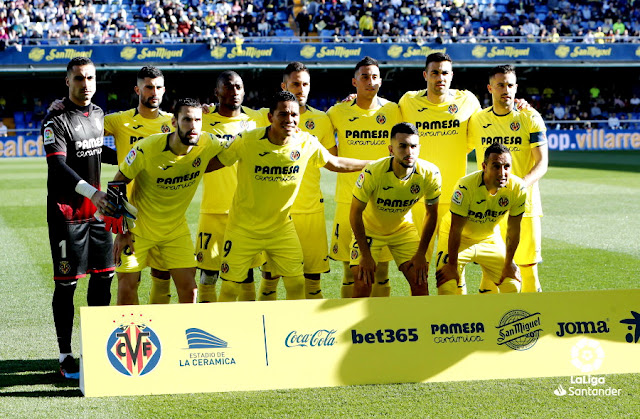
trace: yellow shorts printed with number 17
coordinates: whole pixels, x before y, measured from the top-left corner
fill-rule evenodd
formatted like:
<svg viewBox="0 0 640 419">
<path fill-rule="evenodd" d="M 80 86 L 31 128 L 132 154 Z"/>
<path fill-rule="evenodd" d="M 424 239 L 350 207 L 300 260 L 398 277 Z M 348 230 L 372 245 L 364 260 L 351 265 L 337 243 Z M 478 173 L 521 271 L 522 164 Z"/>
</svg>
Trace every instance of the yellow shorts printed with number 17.
<svg viewBox="0 0 640 419">
<path fill-rule="evenodd" d="M 198 268 L 210 271 L 220 270 L 221 253 L 224 252 L 224 233 L 228 220 L 229 214 L 200 214 L 198 234 L 196 235 Z M 264 257 L 258 255 L 250 267 L 256 268 L 263 263 Z"/>
</svg>

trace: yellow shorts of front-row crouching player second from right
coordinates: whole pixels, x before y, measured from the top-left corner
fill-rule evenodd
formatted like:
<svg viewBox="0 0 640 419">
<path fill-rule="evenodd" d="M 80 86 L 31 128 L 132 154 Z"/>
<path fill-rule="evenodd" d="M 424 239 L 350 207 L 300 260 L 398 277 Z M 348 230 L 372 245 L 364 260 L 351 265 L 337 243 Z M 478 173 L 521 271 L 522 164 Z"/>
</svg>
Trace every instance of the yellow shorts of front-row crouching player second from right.
<svg viewBox="0 0 640 419">
<path fill-rule="evenodd" d="M 388 236 L 367 233 L 367 241 L 369 242 L 369 249 L 371 249 L 371 256 L 373 260 L 378 263 L 380 252 L 386 247 L 391 252 L 393 260 L 396 265 L 400 266 L 403 263 L 411 260 L 418 250 L 420 244 L 420 236 L 414 225 L 409 225 L 402 230 Z M 358 249 L 358 243 L 355 238 L 351 240 L 351 260 L 349 263 L 354 265 L 360 264 L 360 249 Z"/>
</svg>

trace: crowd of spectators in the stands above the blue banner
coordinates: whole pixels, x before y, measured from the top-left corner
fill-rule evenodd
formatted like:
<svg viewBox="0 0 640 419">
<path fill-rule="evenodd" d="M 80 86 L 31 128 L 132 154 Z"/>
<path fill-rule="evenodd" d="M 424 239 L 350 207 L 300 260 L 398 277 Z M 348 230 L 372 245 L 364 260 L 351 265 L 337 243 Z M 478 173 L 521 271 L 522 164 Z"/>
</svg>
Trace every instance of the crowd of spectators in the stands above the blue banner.
<svg viewBox="0 0 640 419">
<path fill-rule="evenodd" d="M 294 35 L 296 34 L 296 35 Z M 640 42 L 634 0 L 0 0 L 9 45 Z"/>
</svg>

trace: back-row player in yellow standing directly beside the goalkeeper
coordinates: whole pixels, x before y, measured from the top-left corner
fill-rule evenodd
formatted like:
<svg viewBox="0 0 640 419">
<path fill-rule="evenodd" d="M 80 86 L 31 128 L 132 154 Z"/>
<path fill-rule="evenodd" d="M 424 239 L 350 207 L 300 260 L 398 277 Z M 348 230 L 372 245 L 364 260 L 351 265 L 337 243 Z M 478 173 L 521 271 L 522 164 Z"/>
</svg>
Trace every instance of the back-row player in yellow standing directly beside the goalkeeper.
<svg viewBox="0 0 640 419">
<path fill-rule="evenodd" d="M 138 71 L 136 86 L 138 106 L 104 117 L 105 135 L 113 135 L 118 153 L 118 163 L 122 163 L 135 143 L 157 133 L 171 131 L 173 115 L 160 109 L 165 92 L 164 75 L 156 67 L 145 66 Z M 127 190 L 131 193 L 133 184 Z M 169 304 L 171 300 L 171 276 L 164 268 L 162 259 L 154 249 L 149 251 L 151 267 L 151 290 L 149 303 Z"/>
</svg>

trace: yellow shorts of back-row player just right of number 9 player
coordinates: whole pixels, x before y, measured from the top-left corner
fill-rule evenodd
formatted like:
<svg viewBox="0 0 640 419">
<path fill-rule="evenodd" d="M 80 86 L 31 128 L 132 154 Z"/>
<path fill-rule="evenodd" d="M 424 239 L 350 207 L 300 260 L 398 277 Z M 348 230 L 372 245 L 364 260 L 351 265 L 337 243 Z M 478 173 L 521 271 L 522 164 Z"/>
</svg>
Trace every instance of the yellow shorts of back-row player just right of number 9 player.
<svg viewBox="0 0 640 419">
<path fill-rule="evenodd" d="M 329 248 L 327 245 L 327 226 L 324 220 L 324 211 L 311 214 L 291 214 L 291 219 L 296 227 L 302 254 L 304 256 L 304 273 L 321 274 L 330 271 Z M 269 258 L 262 270 L 272 272 Z"/>
</svg>

